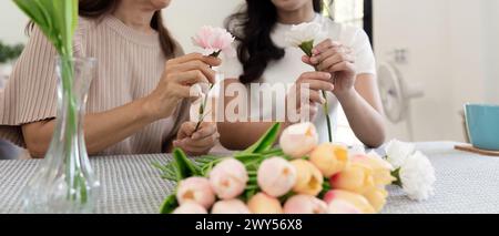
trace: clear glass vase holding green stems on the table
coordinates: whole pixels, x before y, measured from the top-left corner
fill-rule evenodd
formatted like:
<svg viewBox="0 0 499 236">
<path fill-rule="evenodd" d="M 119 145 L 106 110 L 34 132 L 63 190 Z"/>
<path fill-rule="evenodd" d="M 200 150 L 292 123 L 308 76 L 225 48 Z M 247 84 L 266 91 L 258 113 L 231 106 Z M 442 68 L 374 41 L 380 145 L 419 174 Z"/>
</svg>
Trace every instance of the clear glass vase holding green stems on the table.
<svg viewBox="0 0 499 236">
<path fill-rule="evenodd" d="M 99 181 L 86 153 L 83 117 L 94 59 L 57 58 L 58 115 L 50 147 L 23 192 L 26 213 L 80 214 L 95 209 Z"/>
</svg>

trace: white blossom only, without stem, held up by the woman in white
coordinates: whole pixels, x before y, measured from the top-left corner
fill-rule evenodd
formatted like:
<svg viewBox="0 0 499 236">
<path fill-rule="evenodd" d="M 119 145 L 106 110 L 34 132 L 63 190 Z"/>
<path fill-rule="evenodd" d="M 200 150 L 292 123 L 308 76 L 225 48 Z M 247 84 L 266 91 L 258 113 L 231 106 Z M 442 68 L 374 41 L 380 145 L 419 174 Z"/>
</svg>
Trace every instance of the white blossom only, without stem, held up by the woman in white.
<svg viewBox="0 0 499 236">
<path fill-rule="evenodd" d="M 286 32 L 286 44 L 302 48 L 303 43 L 312 42 L 312 47 L 314 47 L 315 44 L 320 43 L 325 38 L 326 34 L 322 31 L 322 25 L 319 23 L 301 23 L 293 25 L 292 29 Z"/>
</svg>

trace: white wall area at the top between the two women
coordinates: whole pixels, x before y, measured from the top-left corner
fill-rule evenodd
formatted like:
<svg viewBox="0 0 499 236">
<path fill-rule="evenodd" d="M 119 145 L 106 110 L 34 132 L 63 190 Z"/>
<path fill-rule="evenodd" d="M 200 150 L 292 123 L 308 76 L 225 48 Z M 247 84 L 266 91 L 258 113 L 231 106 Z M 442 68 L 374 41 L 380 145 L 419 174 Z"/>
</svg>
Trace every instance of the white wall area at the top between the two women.
<svg viewBox="0 0 499 236">
<path fill-rule="evenodd" d="M 189 53 L 196 50 L 191 43 L 191 37 L 201 27 L 223 27 L 224 19 L 238 9 L 242 2 L 243 0 L 173 0 L 164 12 L 165 21 Z"/>
</svg>

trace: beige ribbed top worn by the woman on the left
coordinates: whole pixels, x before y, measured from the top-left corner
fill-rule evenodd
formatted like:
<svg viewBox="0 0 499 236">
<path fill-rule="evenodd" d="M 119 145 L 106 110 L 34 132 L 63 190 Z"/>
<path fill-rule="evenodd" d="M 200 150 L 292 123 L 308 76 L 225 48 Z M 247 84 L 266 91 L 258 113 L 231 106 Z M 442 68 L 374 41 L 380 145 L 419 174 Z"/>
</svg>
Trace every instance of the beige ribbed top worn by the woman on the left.
<svg viewBox="0 0 499 236">
<path fill-rule="evenodd" d="M 88 113 L 104 112 L 147 95 L 157 85 L 166 61 L 157 34 L 138 32 L 111 16 L 99 21 L 80 19 L 74 54 L 98 60 Z M 174 54 L 183 54 L 180 45 Z M 54 58 L 55 50 L 35 28 L 0 92 L 0 138 L 26 146 L 21 125 L 57 115 Z M 170 119 L 147 125 L 101 154 L 160 153 L 187 113 L 189 104 L 183 102 Z"/>
</svg>

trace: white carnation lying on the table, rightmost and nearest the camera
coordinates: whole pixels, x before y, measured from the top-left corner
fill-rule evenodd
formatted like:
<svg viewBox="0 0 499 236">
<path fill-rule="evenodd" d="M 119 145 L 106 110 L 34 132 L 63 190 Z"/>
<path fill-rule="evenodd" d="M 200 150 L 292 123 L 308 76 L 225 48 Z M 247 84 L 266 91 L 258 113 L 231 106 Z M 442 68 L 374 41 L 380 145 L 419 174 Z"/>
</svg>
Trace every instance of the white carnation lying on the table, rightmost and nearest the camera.
<svg viewBox="0 0 499 236">
<path fill-rule="evenodd" d="M 408 156 L 399 171 L 404 192 L 411 199 L 425 201 L 435 194 L 435 168 L 421 152 Z"/>
</svg>

